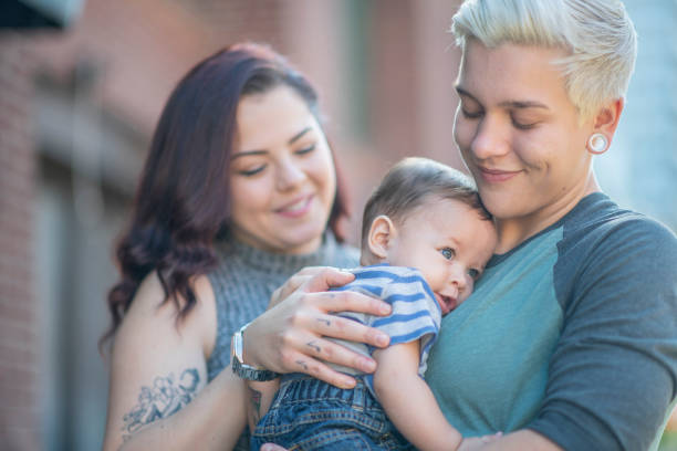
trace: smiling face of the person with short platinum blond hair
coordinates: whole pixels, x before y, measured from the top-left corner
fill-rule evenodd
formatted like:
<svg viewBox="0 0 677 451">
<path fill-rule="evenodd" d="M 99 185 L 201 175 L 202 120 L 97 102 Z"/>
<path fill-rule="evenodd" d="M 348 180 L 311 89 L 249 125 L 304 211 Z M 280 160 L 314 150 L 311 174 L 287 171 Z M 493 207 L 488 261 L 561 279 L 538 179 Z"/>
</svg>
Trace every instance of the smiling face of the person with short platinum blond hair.
<svg viewBox="0 0 677 451">
<path fill-rule="evenodd" d="M 556 49 L 466 44 L 454 136 L 499 231 L 537 232 L 594 183 L 585 148 L 593 120 L 579 124 L 551 64 L 562 56 Z"/>
</svg>

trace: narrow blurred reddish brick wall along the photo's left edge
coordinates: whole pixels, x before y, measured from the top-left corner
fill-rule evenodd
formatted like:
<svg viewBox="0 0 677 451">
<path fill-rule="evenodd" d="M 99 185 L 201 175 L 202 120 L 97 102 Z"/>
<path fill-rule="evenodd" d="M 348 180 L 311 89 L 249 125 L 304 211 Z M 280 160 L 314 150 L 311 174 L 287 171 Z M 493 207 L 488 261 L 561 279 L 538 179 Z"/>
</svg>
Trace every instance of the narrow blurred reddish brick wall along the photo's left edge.
<svg viewBox="0 0 677 451">
<path fill-rule="evenodd" d="M 31 53 L 15 34 L 0 34 L 0 449 L 34 450 L 37 308 L 31 223 L 34 151 Z"/>
</svg>

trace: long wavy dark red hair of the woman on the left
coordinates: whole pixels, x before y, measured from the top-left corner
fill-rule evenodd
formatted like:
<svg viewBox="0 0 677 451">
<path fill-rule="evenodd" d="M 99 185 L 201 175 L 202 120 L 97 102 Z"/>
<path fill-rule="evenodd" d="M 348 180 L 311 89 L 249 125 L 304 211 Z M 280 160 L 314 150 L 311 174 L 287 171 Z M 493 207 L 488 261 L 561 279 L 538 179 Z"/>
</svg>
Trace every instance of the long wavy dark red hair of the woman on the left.
<svg viewBox="0 0 677 451">
<path fill-rule="evenodd" d="M 156 271 L 185 317 L 196 304 L 195 275 L 217 264 L 213 243 L 230 221 L 229 162 L 242 96 L 291 87 L 319 118 L 317 95 L 308 80 L 268 46 L 240 43 L 207 57 L 178 83 L 155 129 L 136 191 L 132 221 L 116 258 L 122 280 L 108 293 L 111 337 L 140 282 Z M 334 157 L 334 167 L 336 167 Z M 343 241 L 345 183 L 336 167 L 336 195 L 329 227 Z M 184 302 L 180 303 L 179 298 Z"/>
</svg>

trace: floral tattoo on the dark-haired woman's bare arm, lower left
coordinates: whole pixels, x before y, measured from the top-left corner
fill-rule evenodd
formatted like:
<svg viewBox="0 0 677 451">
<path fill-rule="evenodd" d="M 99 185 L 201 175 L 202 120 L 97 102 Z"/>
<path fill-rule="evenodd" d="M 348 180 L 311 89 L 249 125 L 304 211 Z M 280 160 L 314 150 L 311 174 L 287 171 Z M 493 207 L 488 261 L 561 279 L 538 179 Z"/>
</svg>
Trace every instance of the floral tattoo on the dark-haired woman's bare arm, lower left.
<svg viewBox="0 0 677 451">
<path fill-rule="evenodd" d="M 156 377 L 153 387 L 142 387 L 138 403 L 123 417 L 123 440 L 155 420 L 167 418 L 186 407 L 198 392 L 200 375 L 188 368 L 176 379 L 174 374 Z"/>
</svg>

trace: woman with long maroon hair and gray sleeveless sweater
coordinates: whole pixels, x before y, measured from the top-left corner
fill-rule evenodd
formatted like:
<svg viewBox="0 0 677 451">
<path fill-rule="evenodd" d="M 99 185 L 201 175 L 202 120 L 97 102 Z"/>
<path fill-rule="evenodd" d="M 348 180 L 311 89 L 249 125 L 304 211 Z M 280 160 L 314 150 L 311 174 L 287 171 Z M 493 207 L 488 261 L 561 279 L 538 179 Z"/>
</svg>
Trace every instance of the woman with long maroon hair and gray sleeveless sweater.
<svg viewBox="0 0 677 451">
<path fill-rule="evenodd" d="M 247 365 L 244 328 L 300 269 L 356 265 L 356 252 L 342 244 L 346 214 L 317 97 L 299 72 L 251 43 L 196 65 L 163 111 L 117 247 L 122 276 L 108 295 L 113 324 L 104 338 L 113 338 L 104 450 L 233 448 L 249 402 L 243 380 L 277 376 Z M 343 284 L 352 275 L 332 277 Z M 388 311 L 366 296 L 314 308 Z M 274 317 L 257 322 L 269 336 Z M 357 324 L 338 335 L 387 343 Z M 335 359 L 375 367 L 347 352 Z"/>
</svg>

